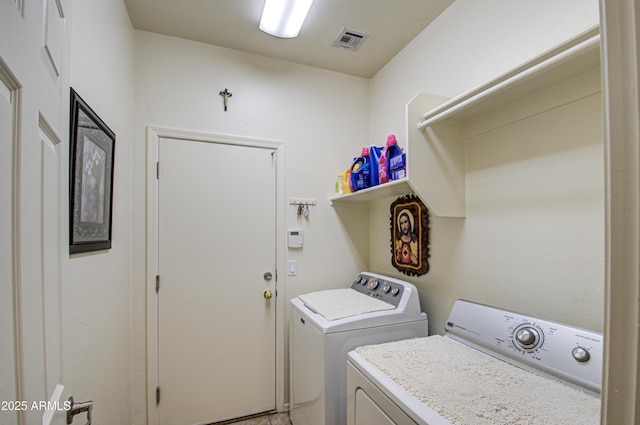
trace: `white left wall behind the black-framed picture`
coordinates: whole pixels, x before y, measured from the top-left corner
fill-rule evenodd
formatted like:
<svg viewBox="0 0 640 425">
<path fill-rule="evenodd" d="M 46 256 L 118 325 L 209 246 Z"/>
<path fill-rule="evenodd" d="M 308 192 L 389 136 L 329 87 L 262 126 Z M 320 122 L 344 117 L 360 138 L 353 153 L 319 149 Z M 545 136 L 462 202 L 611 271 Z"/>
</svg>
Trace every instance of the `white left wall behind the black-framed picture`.
<svg viewBox="0 0 640 425">
<path fill-rule="evenodd" d="M 122 2 L 91 0 L 73 2 L 70 31 L 70 84 L 116 134 L 113 247 L 63 255 L 73 396 L 94 401 L 93 423 L 128 424 L 133 28 Z"/>
</svg>

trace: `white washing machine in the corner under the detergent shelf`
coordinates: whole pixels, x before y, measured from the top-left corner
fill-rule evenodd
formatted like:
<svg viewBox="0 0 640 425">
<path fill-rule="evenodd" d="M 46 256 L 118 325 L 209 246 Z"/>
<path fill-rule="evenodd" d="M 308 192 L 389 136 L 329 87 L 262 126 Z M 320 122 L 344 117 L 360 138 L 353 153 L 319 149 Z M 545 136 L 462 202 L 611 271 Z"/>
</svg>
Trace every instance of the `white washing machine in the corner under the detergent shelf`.
<svg viewBox="0 0 640 425">
<path fill-rule="evenodd" d="M 345 425 L 347 353 L 427 336 L 416 287 L 362 272 L 349 288 L 291 300 L 290 417 L 293 425 Z"/>
</svg>

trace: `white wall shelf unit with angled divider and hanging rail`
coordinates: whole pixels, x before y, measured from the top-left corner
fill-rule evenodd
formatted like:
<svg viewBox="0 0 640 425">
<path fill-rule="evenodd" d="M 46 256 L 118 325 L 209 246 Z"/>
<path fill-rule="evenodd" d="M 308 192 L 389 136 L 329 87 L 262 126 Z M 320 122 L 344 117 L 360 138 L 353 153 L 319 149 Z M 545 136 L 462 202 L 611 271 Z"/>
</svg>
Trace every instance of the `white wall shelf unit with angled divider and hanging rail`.
<svg viewBox="0 0 640 425">
<path fill-rule="evenodd" d="M 469 139 L 600 92 L 596 27 L 453 99 L 419 93 L 406 106 L 407 177 L 331 202 L 366 203 L 414 193 L 436 216 L 465 217 Z"/>
</svg>

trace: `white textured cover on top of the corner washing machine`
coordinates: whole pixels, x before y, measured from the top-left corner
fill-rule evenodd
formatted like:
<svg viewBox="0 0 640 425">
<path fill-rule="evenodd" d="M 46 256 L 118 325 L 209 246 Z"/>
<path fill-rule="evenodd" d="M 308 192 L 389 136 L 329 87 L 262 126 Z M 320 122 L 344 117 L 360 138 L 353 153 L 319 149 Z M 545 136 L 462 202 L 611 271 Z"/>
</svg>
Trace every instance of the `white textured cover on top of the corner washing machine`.
<svg viewBox="0 0 640 425">
<path fill-rule="evenodd" d="M 385 301 L 369 297 L 351 288 L 311 292 L 299 297 L 307 308 L 327 320 L 339 320 L 396 307 Z"/>
</svg>

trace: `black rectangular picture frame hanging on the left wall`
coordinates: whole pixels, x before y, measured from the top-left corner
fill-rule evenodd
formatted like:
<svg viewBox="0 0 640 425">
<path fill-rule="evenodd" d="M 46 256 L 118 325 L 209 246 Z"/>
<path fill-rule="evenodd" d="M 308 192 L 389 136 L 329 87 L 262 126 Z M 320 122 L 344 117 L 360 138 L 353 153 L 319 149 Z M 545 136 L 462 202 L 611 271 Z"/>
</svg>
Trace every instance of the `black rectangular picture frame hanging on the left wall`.
<svg viewBox="0 0 640 425">
<path fill-rule="evenodd" d="M 111 249 L 116 135 L 71 89 L 69 253 Z"/>
</svg>

